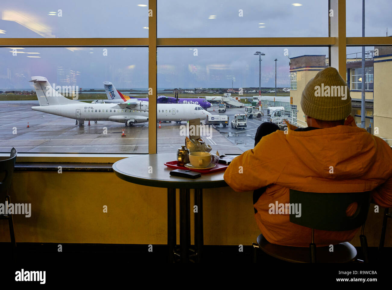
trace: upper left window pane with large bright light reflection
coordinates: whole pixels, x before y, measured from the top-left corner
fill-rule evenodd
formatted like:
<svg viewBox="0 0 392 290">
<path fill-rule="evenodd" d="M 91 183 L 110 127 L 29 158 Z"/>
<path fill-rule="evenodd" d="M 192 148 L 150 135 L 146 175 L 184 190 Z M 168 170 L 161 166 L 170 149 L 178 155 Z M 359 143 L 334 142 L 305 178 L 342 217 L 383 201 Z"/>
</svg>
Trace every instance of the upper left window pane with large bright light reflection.
<svg viewBox="0 0 392 290">
<path fill-rule="evenodd" d="M 2 1 L 0 37 L 148 37 L 148 0 Z"/>
</svg>

